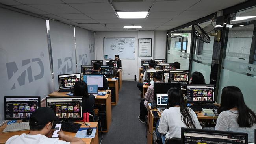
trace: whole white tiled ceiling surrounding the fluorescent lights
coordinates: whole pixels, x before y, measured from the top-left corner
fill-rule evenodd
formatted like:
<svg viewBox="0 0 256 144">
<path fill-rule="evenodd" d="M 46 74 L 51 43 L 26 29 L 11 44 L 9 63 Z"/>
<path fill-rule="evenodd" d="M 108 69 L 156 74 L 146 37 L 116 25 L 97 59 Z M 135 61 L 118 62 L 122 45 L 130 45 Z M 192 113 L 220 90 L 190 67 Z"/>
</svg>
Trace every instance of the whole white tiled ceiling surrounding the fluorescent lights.
<svg viewBox="0 0 256 144">
<path fill-rule="evenodd" d="M 125 2 L 122 2 L 125 1 Z M 91 31 L 166 31 L 246 0 L 0 0 L 1 4 Z M 119 19 L 116 11 L 149 11 L 146 19 Z"/>
</svg>

